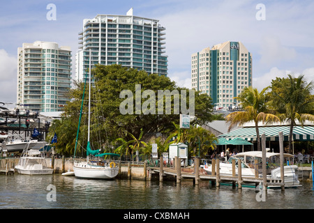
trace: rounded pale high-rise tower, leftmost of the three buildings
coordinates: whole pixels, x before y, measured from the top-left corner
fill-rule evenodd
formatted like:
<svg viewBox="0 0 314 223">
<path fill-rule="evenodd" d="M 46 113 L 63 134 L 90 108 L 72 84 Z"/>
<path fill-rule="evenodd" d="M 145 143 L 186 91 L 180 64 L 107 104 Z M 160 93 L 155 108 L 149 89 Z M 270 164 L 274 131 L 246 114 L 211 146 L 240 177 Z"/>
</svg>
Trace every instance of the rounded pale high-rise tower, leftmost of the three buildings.
<svg viewBox="0 0 314 223">
<path fill-rule="evenodd" d="M 70 47 L 36 41 L 17 49 L 17 104 L 33 112 L 61 112 L 71 85 Z"/>
</svg>

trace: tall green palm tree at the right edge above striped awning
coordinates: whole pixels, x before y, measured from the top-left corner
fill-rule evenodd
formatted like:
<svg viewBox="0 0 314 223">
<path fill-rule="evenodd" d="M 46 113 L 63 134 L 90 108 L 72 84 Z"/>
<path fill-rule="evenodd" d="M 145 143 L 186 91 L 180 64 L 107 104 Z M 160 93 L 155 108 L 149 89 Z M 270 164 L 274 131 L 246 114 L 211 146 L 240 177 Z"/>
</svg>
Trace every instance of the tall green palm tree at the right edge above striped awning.
<svg viewBox="0 0 314 223">
<path fill-rule="evenodd" d="M 311 91 L 314 88 L 313 81 L 308 84 L 304 75 L 297 78 L 288 75 L 287 79 L 279 79 L 272 82 L 271 104 L 278 110 L 281 121 L 290 123 L 289 152 L 292 149 L 292 132 L 296 121 L 303 127 L 304 121 L 314 121 L 314 96 Z"/>
</svg>

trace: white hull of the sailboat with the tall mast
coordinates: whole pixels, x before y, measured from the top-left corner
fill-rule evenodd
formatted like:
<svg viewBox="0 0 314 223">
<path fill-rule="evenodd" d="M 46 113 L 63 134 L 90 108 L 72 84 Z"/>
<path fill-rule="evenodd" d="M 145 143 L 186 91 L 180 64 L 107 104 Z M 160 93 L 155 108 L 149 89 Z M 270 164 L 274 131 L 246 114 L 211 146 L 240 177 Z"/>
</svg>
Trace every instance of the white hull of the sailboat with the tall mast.
<svg viewBox="0 0 314 223">
<path fill-rule="evenodd" d="M 86 163 L 75 164 L 73 170 L 77 178 L 112 179 L 119 174 L 118 167 L 92 166 Z"/>
</svg>

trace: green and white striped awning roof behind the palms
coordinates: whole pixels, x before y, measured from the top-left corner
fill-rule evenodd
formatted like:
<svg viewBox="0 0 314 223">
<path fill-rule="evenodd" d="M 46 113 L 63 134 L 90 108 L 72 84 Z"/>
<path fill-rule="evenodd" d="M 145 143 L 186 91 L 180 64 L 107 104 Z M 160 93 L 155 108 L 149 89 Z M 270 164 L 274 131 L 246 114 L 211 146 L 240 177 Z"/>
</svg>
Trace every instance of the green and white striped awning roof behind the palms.
<svg viewBox="0 0 314 223">
<path fill-rule="evenodd" d="M 290 126 L 263 126 L 258 128 L 260 135 L 265 134 L 267 141 L 278 141 L 278 132 L 283 132 L 284 141 L 288 141 L 290 134 Z M 220 134 L 218 138 L 234 139 L 241 138 L 248 141 L 256 140 L 255 127 L 239 128 L 231 132 Z M 293 128 L 293 140 L 294 141 L 314 141 L 314 125 L 311 126 L 294 126 Z"/>
</svg>

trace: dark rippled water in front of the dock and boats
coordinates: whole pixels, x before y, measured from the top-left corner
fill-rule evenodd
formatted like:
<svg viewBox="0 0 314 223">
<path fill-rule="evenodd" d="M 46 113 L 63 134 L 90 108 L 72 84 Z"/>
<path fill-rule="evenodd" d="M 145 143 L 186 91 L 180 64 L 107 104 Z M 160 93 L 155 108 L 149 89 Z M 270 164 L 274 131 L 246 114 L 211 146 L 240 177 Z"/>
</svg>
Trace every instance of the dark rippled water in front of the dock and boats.
<svg viewBox="0 0 314 223">
<path fill-rule="evenodd" d="M 49 186 L 53 185 L 55 190 Z M 54 197 L 52 194 L 56 194 Z M 268 190 L 257 201 L 254 188 L 211 187 L 142 180 L 86 180 L 59 174 L 48 176 L 0 175 L 1 209 L 290 209 L 314 208 L 313 184 L 297 189 Z M 50 200 L 50 201 L 49 201 Z"/>
</svg>

